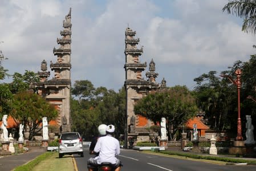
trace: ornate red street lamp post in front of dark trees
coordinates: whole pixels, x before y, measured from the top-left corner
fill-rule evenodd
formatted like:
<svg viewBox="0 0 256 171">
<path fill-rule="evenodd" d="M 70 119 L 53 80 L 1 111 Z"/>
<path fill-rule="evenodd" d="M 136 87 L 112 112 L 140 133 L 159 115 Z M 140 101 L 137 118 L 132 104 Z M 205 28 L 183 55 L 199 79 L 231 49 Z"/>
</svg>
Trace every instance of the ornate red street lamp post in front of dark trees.
<svg viewBox="0 0 256 171">
<path fill-rule="evenodd" d="M 230 80 L 231 83 L 233 83 L 235 86 L 237 86 L 237 101 L 238 101 L 238 117 L 237 117 L 237 137 L 235 138 L 235 140 L 237 141 L 242 141 L 243 137 L 242 137 L 242 124 L 241 124 L 241 117 L 240 117 L 240 89 L 241 89 L 241 74 L 242 71 L 241 69 L 237 69 L 235 70 L 235 75 L 237 75 L 237 79 L 233 80 L 230 76 L 228 75 L 221 75 L 222 77 L 226 77 Z"/>
</svg>

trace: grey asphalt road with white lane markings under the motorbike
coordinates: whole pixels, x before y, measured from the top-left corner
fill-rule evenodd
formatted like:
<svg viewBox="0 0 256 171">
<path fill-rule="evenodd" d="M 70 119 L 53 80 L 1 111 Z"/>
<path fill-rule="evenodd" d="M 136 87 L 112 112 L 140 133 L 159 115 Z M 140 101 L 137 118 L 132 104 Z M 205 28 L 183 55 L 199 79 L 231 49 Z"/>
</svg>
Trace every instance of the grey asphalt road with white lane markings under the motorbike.
<svg viewBox="0 0 256 171">
<path fill-rule="evenodd" d="M 75 155 L 74 155 L 75 156 Z M 84 157 L 75 156 L 76 165 L 78 166 L 78 170 L 87 170 L 87 160 L 92 157 L 88 149 L 84 151 Z M 164 171 L 164 170 L 256 170 L 256 166 L 251 165 L 216 165 L 210 164 L 206 162 L 198 162 L 191 160 L 182 160 L 178 158 L 172 157 L 164 157 L 157 156 L 152 154 L 145 154 L 138 152 L 136 150 L 125 150 L 121 149 L 121 153 L 119 156 L 120 160 L 123 162 L 122 171 L 128 170 L 156 170 L 156 171 Z"/>
</svg>

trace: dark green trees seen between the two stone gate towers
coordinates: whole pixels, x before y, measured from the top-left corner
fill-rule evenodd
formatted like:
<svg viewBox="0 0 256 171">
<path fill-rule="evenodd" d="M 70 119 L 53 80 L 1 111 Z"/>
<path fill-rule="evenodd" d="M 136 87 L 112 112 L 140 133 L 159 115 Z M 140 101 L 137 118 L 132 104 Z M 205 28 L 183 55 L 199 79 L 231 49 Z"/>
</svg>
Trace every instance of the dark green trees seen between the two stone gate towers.
<svg viewBox="0 0 256 171">
<path fill-rule="evenodd" d="M 94 88 L 88 80 L 76 81 L 71 99 L 72 130 L 81 133 L 84 139 L 91 140 L 97 136 L 100 124 L 115 125 L 115 136 L 124 134 L 125 91 L 118 93 L 105 87 Z M 90 129 L 88 129 L 90 128 Z"/>
</svg>

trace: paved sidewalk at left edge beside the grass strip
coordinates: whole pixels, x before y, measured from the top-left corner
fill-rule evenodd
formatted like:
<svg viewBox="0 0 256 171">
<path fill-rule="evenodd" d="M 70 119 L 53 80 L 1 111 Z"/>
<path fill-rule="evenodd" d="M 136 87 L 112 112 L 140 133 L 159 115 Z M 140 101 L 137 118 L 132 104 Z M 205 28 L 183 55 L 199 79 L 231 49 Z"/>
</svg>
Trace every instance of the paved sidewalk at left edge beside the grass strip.
<svg viewBox="0 0 256 171">
<path fill-rule="evenodd" d="M 16 168 L 17 166 L 21 166 L 26 164 L 27 162 L 33 160 L 40 154 L 46 152 L 46 148 L 42 146 L 37 147 L 29 147 L 29 151 L 22 154 L 13 154 L 10 156 L 0 156 L 0 170 L 1 171 L 10 171 Z"/>
</svg>

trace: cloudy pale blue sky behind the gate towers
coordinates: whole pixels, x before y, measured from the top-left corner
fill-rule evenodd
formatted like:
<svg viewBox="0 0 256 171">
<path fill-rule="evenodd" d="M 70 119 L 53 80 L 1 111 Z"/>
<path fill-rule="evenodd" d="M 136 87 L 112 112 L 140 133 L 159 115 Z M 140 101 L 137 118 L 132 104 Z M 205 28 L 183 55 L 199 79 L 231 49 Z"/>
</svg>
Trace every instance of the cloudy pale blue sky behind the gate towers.
<svg viewBox="0 0 256 171">
<path fill-rule="evenodd" d="M 144 53 L 140 62 L 156 63 L 157 82 L 193 89 L 209 71 L 224 71 L 247 61 L 255 37 L 241 31 L 242 19 L 223 13 L 224 0 L 0 0 L 0 50 L 3 66 L 14 72 L 38 72 L 45 59 L 50 70 L 59 47 L 62 21 L 72 7 L 71 80 L 118 91 L 125 81 L 124 31 L 137 31 Z M 145 77 L 145 72 L 143 77 Z M 51 72 L 49 79 L 54 77 Z M 10 82 L 6 79 L 1 82 Z"/>
</svg>

